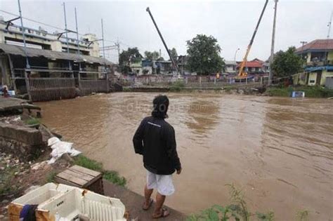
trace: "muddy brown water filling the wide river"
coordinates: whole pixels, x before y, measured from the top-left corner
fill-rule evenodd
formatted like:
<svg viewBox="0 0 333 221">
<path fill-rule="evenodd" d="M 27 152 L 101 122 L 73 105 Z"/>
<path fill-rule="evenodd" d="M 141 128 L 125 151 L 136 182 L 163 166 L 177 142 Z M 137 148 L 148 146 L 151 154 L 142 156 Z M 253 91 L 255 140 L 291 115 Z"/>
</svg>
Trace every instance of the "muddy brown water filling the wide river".
<svg viewBox="0 0 333 221">
<path fill-rule="evenodd" d="M 43 121 L 142 193 L 145 170 L 131 139 L 155 93 L 112 93 L 39 103 Z M 244 189 L 251 210 L 276 220 L 333 217 L 333 100 L 169 94 L 183 173 L 166 204 L 192 213 Z"/>
</svg>

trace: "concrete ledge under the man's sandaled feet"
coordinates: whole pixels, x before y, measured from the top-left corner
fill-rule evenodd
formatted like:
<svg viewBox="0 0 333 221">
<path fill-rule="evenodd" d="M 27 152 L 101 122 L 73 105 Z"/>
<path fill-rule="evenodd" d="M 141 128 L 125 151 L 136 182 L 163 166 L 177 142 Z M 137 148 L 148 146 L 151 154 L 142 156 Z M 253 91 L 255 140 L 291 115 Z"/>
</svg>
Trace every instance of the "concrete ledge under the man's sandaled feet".
<svg viewBox="0 0 333 221">
<path fill-rule="evenodd" d="M 140 221 L 154 220 L 152 219 L 152 211 L 155 203 L 152 204 L 148 211 L 145 211 L 141 208 L 144 201 L 143 196 L 124 187 L 114 185 L 107 180 L 103 180 L 103 185 L 105 196 L 118 198 L 122 201 L 122 203 L 124 203 L 126 210 L 129 212 L 130 220 L 135 219 L 136 217 L 138 217 L 138 220 Z M 166 208 L 168 207 L 166 206 Z M 172 208 L 169 208 L 169 210 L 170 215 L 168 217 L 159 218 L 158 220 L 181 221 L 186 219 L 185 214 Z"/>
</svg>

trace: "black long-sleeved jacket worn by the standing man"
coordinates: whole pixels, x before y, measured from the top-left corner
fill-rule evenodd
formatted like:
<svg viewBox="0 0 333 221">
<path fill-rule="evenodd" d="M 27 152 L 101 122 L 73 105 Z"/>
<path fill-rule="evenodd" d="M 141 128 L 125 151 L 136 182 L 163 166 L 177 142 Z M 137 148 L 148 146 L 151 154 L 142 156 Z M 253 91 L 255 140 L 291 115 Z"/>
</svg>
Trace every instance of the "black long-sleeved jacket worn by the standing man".
<svg viewBox="0 0 333 221">
<path fill-rule="evenodd" d="M 143 155 L 143 164 L 151 173 L 170 175 L 181 168 L 175 130 L 162 118 L 145 117 L 136 130 L 133 145 L 136 154 Z"/>
</svg>

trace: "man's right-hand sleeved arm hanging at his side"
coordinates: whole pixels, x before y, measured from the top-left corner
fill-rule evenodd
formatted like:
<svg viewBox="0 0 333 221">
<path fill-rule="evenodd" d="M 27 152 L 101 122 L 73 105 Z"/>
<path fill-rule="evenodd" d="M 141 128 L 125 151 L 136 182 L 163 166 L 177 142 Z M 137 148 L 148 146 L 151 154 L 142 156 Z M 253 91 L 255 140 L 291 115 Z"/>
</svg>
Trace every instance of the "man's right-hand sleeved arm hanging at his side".
<svg viewBox="0 0 333 221">
<path fill-rule="evenodd" d="M 177 170 L 177 173 L 181 171 L 181 161 L 179 160 L 177 149 L 176 149 L 176 136 L 174 128 L 170 128 L 166 131 L 166 143 L 167 143 L 167 153 L 169 159 L 171 159 L 174 168 Z"/>
</svg>

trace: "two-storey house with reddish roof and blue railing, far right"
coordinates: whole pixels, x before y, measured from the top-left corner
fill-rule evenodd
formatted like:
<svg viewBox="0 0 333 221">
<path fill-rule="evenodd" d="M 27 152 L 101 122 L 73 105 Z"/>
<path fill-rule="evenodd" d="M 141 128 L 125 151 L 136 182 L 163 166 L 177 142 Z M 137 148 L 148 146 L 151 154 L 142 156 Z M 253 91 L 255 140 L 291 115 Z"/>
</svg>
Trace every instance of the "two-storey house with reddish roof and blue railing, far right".
<svg viewBox="0 0 333 221">
<path fill-rule="evenodd" d="M 324 86 L 326 77 L 333 76 L 333 39 L 316 39 L 295 53 L 306 61 L 304 72 L 294 75 L 295 84 Z"/>
</svg>

